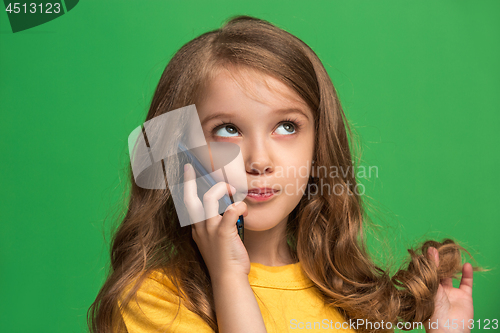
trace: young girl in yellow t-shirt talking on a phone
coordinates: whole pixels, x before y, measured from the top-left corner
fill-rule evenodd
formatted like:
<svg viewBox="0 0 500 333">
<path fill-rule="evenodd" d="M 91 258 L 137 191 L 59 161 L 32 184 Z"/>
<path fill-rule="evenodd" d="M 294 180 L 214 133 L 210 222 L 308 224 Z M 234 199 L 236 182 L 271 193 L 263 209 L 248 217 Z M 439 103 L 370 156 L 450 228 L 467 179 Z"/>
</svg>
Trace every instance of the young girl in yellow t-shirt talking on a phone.
<svg viewBox="0 0 500 333">
<path fill-rule="evenodd" d="M 248 188 L 272 193 L 249 193 L 220 216 L 210 214 L 227 193 L 217 183 L 201 206 L 215 217 L 181 227 L 168 188 L 140 188 L 131 175 L 112 269 L 89 309 L 92 332 L 374 332 L 401 322 L 444 332 L 448 319 L 460 323 L 450 331 L 470 331 L 473 267 L 461 264 L 459 245 L 428 241 L 391 277 L 367 254 L 354 175 L 312 177 L 311 165 L 354 165 L 335 88 L 305 43 L 248 16 L 195 38 L 169 62 L 146 120 L 191 104 L 207 142 L 239 145 Z M 192 166 L 184 175 L 195 177 Z M 303 195 L 319 183 L 343 191 Z M 186 186 L 187 206 L 201 205 L 195 192 Z"/>
</svg>

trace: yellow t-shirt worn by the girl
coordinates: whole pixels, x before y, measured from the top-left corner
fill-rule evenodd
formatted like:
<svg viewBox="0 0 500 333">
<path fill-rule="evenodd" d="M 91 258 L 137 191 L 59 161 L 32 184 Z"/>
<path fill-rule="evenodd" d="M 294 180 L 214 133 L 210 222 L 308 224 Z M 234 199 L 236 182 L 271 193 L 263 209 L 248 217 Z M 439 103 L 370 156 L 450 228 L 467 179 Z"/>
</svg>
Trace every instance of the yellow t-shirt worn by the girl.
<svg viewBox="0 0 500 333">
<path fill-rule="evenodd" d="M 248 281 L 258 296 L 268 333 L 355 332 L 339 312 L 324 305 L 313 282 L 302 272 L 300 262 L 285 266 L 251 263 Z M 179 297 L 175 290 L 165 275 L 153 272 L 139 288 L 137 301 L 132 300 L 122 311 L 128 332 L 165 332 L 177 313 Z M 181 301 L 177 318 L 168 332 L 209 333 L 213 330 Z"/>
</svg>

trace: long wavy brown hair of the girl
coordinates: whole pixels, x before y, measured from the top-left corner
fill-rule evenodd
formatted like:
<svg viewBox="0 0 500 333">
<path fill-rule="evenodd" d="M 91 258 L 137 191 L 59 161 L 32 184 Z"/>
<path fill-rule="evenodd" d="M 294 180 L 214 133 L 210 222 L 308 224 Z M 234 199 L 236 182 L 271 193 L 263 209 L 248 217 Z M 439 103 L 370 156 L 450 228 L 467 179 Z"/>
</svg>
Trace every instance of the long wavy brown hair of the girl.
<svg viewBox="0 0 500 333">
<path fill-rule="evenodd" d="M 145 121 L 196 103 L 223 68 L 251 68 L 292 88 L 314 114 L 316 168 L 355 169 L 353 133 L 318 56 L 294 35 L 254 17 L 234 17 L 222 28 L 185 44 L 163 72 Z M 410 260 L 390 276 L 368 254 L 364 228 L 369 217 L 355 188 L 355 173 L 315 176 L 311 182 L 345 190 L 339 195 L 304 196 L 289 215 L 286 237 L 293 259 L 301 262 L 325 303 L 346 319 L 394 324 L 427 321 L 434 312 L 440 279 L 458 276 L 461 251 L 467 251 L 449 239 L 427 241 L 408 250 Z M 112 240 L 109 276 L 88 311 L 90 331 L 122 330 L 118 300 L 124 290 L 136 282 L 122 306 L 149 273 L 162 270 L 180 290 L 187 308 L 218 332 L 207 267 L 191 228 L 179 224 L 168 187 L 140 188 L 130 165 L 128 180 L 128 206 Z M 439 268 L 426 255 L 429 246 L 439 252 Z"/>
</svg>

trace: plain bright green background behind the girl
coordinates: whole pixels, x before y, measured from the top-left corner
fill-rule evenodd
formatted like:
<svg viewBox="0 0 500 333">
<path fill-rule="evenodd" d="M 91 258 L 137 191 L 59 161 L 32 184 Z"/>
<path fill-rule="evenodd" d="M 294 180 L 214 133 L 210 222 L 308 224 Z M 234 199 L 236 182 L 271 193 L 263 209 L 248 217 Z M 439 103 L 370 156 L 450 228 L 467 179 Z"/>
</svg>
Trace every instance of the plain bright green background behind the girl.
<svg viewBox="0 0 500 333">
<path fill-rule="evenodd" d="M 2 331 L 86 330 L 127 137 L 173 54 L 236 14 L 316 51 L 378 168 L 366 194 L 395 255 L 461 242 L 492 268 L 475 274 L 475 319 L 498 319 L 500 1 L 107 0 L 15 34 L 0 13 Z"/>
</svg>

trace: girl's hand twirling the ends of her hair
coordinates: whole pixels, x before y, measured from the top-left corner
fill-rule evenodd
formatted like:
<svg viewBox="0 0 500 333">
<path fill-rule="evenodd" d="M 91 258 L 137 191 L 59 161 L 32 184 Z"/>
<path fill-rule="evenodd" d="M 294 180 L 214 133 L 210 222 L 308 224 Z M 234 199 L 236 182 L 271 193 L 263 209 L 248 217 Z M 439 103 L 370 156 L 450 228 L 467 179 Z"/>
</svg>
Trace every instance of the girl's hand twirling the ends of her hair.
<svg viewBox="0 0 500 333">
<path fill-rule="evenodd" d="M 439 254 L 436 248 L 430 247 L 428 254 L 439 266 Z M 472 305 L 472 265 L 465 263 L 462 268 L 460 287 L 454 288 L 451 278 L 441 281 L 436 297 L 435 308 L 431 319 L 425 323 L 427 333 L 469 333 L 470 322 L 474 320 Z"/>
</svg>

